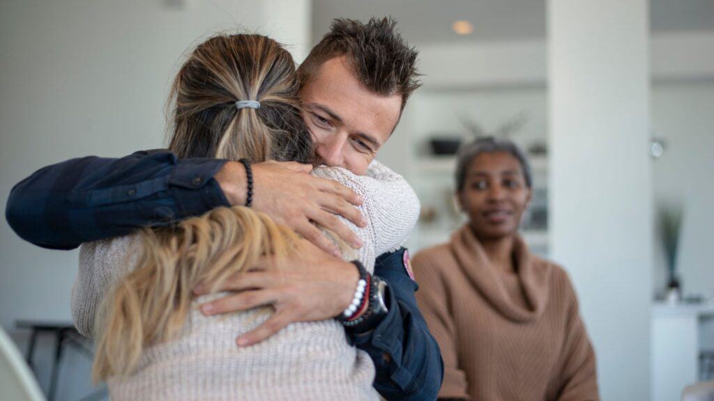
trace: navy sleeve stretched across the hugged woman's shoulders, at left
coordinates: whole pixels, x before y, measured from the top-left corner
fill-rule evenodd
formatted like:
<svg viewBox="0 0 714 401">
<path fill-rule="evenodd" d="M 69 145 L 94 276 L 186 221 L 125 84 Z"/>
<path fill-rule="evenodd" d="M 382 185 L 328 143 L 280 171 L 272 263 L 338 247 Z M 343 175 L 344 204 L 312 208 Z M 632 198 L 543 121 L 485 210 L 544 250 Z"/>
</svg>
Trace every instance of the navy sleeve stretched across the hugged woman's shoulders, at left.
<svg viewBox="0 0 714 401">
<path fill-rule="evenodd" d="M 14 186 L 5 215 L 21 238 L 43 248 L 72 249 L 228 205 L 213 179 L 223 163 L 179 161 L 169 151 L 71 159 Z"/>
</svg>

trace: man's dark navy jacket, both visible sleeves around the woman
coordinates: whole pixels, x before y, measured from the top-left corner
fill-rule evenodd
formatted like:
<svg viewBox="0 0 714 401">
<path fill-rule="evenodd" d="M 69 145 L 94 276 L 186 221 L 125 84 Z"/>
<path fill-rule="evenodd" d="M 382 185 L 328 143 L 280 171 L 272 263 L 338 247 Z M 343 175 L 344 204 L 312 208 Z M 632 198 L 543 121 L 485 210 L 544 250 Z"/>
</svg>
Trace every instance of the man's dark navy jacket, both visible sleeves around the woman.
<svg viewBox="0 0 714 401">
<path fill-rule="evenodd" d="M 213 179 L 225 162 L 179 161 L 161 150 L 71 159 L 14 186 L 6 218 L 21 238 L 51 249 L 171 224 L 229 205 Z M 371 332 L 348 336 L 371 356 L 374 387 L 387 400 L 436 400 L 443 361 L 416 305 L 418 286 L 406 273 L 404 251 L 381 255 L 375 263 L 374 273 L 388 283 L 388 315 Z"/>
</svg>

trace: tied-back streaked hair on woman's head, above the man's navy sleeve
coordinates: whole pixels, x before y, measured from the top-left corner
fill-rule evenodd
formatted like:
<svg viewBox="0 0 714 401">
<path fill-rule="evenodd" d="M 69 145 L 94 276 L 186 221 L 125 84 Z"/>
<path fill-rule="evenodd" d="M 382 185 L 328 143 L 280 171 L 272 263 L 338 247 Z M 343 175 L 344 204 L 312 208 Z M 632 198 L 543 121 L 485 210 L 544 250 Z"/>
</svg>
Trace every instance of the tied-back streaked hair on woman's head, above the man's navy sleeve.
<svg viewBox="0 0 714 401">
<path fill-rule="evenodd" d="M 312 161 L 292 57 L 261 35 L 218 35 L 191 53 L 171 86 L 169 150 L 178 158 Z M 258 101 L 259 108 L 236 108 Z"/>
</svg>

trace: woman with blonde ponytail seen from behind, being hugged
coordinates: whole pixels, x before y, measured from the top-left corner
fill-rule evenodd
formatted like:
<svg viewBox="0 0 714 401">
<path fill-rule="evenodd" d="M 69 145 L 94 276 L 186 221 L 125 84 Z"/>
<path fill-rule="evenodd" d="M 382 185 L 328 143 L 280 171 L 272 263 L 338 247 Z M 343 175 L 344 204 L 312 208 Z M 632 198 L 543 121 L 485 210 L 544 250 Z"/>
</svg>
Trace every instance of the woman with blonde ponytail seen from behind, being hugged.
<svg viewBox="0 0 714 401">
<path fill-rule="evenodd" d="M 311 161 L 293 60 L 265 36 L 219 35 L 198 45 L 176 76 L 171 104 L 169 148 L 179 158 Z M 343 258 L 371 273 L 376 256 L 403 245 L 416 223 L 416 196 L 386 168 L 313 174 L 364 198 L 368 225 L 343 220 L 364 246 L 336 242 Z M 293 323 L 237 347 L 236 335 L 270 317 L 269 305 L 221 316 L 198 310 L 225 295 L 197 296 L 199 283 L 218 288 L 266 258 L 291 258 L 305 243 L 267 215 L 234 207 L 82 245 L 72 311 L 77 328 L 96 335 L 95 380 L 108 382 L 112 400 L 378 400 L 373 362 L 348 344 L 336 320 Z"/>
</svg>

